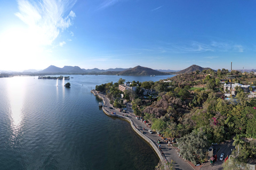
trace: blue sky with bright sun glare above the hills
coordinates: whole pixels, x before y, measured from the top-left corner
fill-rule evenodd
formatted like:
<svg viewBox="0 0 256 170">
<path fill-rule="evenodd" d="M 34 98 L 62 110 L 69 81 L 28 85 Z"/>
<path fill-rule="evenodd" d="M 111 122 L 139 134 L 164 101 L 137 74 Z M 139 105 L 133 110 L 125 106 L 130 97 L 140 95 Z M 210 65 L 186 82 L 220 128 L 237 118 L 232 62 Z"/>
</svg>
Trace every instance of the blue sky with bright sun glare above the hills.
<svg viewBox="0 0 256 170">
<path fill-rule="evenodd" d="M 256 1 L 0 0 L 0 70 L 256 69 Z"/>
</svg>

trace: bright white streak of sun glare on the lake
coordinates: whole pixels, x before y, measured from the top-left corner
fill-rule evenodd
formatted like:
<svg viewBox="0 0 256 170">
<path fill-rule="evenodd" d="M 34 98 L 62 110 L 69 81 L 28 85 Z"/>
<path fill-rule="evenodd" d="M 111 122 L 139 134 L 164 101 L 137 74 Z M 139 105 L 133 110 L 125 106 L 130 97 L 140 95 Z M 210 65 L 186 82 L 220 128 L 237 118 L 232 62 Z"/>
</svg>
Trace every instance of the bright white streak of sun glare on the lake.
<svg viewBox="0 0 256 170">
<path fill-rule="evenodd" d="M 25 95 L 25 79 L 13 77 L 8 79 L 8 97 L 10 103 L 10 121 L 11 121 L 11 143 L 15 145 L 15 139 L 21 132 L 22 127 L 22 106 Z"/>
</svg>

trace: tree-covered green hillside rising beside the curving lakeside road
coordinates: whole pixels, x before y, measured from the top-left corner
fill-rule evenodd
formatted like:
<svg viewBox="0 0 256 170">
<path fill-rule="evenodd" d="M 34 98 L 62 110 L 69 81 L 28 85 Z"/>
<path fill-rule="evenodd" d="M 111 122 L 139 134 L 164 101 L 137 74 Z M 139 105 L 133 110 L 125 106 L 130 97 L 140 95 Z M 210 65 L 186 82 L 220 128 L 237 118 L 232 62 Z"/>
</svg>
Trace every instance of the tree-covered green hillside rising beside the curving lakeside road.
<svg viewBox="0 0 256 170">
<path fill-rule="evenodd" d="M 231 78 L 230 78 L 231 75 Z M 124 79 L 95 87 L 114 107 L 132 103 L 133 113 L 143 116 L 151 128 L 164 137 L 178 138 L 180 155 L 194 165 L 207 159 L 212 143 L 233 139 L 232 151 L 224 168 L 256 164 L 256 99 L 249 98 L 256 86 L 253 72 L 226 69 L 193 71 L 157 82 L 126 82 L 135 90 L 119 90 Z M 250 91 L 234 87 L 236 95 L 223 89 L 225 84 L 250 85 Z M 226 161 L 226 160 L 225 160 Z"/>
</svg>

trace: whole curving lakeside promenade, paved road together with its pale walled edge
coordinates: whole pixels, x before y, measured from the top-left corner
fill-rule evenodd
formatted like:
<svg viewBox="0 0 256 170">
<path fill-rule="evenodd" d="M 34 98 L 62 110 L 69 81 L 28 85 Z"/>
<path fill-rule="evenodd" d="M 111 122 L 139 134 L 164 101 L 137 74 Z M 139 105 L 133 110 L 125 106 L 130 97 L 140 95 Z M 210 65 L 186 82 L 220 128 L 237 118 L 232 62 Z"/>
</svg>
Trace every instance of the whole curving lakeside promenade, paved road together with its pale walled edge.
<svg viewBox="0 0 256 170">
<path fill-rule="evenodd" d="M 176 151 L 176 149 L 178 148 L 174 148 L 174 147 L 169 147 L 167 146 L 167 143 L 164 142 L 162 140 L 161 137 L 158 136 L 157 133 L 149 133 L 148 130 L 150 128 L 147 127 L 146 123 L 142 123 L 142 121 L 137 120 L 137 118 L 135 117 L 135 115 L 132 113 L 132 108 L 131 108 L 131 104 L 128 103 L 127 106 L 127 112 L 126 113 L 122 113 L 119 112 L 118 109 L 110 109 L 109 107 L 113 107 L 113 105 L 111 105 L 109 103 L 108 98 L 105 95 L 102 94 L 98 94 L 95 90 L 91 90 L 91 92 L 95 95 L 98 96 L 99 98 L 101 98 L 103 100 L 103 112 L 105 112 L 107 115 L 109 116 L 115 116 L 115 117 L 119 117 L 119 118 L 123 118 L 127 121 L 129 121 L 131 123 L 131 126 L 133 128 L 133 130 L 135 132 L 138 133 L 138 135 L 141 136 L 141 138 L 143 138 L 144 140 L 146 140 L 151 147 L 153 147 L 153 149 L 155 150 L 156 154 L 158 155 L 159 159 L 164 163 L 166 162 L 166 160 L 168 162 L 171 162 L 171 160 L 173 160 L 175 169 L 186 169 L 186 170 L 193 170 L 193 169 L 197 169 L 199 167 L 195 167 L 193 164 L 189 163 L 188 161 L 183 160 L 182 157 L 179 157 L 178 152 Z M 111 114 L 111 112 L 115 112 L 116 114 Z M 128 115 L 128 116 L 123 116 L 123 115 Z M 145 130 L 144 130 L 145 129 Z M 142 133 L 143 132 L 143 133 Z M 159 151 L 158 149 L 158 143 L 157 140 L 161 140 L 161 142 L 159 143 L 159 145 L 161 145 L 161 150 L 163 151 L 164 155 L 162 156 L 161 151 Z"/>
</svg>

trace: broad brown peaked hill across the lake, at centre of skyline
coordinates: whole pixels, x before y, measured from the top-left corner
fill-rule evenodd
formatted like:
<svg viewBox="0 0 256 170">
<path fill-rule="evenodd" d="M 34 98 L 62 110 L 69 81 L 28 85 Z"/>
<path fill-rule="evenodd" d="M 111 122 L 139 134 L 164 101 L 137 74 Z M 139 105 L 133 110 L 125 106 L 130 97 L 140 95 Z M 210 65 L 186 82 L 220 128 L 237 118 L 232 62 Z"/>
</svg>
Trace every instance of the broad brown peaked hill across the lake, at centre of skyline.
<svg viewBox="0 0 256 170">
<path fill-rule="evenodd" d="M 136 66 L 132 69 L 128 69 L 119 72 L 120 75 L 166 75 L 167 73 L 156 71 L 148 67 Z"/>
</svg>

